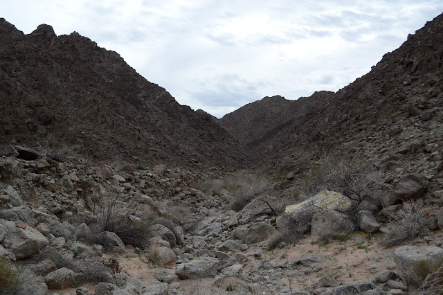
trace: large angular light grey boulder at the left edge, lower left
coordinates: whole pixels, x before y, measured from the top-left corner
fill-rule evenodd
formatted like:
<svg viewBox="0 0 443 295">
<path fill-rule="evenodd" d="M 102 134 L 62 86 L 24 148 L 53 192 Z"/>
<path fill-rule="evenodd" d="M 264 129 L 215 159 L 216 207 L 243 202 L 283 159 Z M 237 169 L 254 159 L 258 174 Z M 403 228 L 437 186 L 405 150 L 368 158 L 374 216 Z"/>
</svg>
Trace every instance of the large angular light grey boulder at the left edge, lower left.
<svg viewBox="0 0 443 295">
<path fill-rule="evenodd" d="M 49 240 L 42 233 L 30 226 L 23 229 L 23 226 L 17 226 L 16 222 L 6 220 L 0 220 L 0 224 L 8 229 L 1 244 L 10 249 L 17 260 L 33 256 L 49 244 Z"/>
</svg>

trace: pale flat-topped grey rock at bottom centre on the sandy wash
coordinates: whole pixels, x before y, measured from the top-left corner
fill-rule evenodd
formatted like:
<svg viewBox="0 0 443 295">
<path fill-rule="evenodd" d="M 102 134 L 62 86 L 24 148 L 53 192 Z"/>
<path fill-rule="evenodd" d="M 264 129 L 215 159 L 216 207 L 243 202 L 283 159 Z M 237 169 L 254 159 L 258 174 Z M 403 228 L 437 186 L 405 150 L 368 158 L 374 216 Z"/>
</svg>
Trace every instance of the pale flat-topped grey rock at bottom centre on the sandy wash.
<svg viewBox="0 0 443 295">
<path fill-rule="evenodd" d="M 177 265 L 175 274 L 179 278 L 214 278 L 217 274 L 219 260 L 210 257 L 201 257 L 190 262 Z"/>
</svg>

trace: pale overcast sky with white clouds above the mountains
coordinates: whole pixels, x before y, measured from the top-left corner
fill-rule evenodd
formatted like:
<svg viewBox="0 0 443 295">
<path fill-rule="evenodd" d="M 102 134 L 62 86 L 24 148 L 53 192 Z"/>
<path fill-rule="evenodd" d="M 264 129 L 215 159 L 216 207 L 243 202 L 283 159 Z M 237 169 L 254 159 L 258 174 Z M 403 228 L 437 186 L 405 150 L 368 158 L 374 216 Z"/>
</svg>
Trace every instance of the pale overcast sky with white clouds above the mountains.
<svg viewBox="0 0 443 295">
<path fill-rule="evenodd" d="M 2 2 L 24 33 L 77 31 L 219 118 L 264 96 L 338 91 L 443 12 L 442 0 Z"/>
</svg>

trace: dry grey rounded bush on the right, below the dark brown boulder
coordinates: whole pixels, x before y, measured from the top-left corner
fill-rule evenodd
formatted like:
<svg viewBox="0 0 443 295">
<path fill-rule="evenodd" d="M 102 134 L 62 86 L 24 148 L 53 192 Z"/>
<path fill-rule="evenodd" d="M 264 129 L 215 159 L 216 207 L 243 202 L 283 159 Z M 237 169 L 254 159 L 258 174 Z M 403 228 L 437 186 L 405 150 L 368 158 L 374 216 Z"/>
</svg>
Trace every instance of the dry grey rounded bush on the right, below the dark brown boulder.
<svg viewBox="0 0 443 295">
<path fill-rule="evenodd" d="M 386 233 L 387 247 L 392 247 L 400 242 L 413 240 L 420 235 L 428 233 L 428 220 L 426 220 L 426 208 L 408 201 L 403 204 L 401 211 L 390 217 L 390 231 Z"/>
</svg>

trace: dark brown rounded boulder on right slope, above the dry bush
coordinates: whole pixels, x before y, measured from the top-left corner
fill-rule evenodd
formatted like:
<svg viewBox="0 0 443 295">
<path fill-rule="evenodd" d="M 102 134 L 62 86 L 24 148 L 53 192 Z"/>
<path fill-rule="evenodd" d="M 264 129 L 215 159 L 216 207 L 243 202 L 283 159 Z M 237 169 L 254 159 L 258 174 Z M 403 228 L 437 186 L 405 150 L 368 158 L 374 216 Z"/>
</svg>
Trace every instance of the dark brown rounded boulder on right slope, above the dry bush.
<svg viewBox="0 0 443 295">
<path fill-rule="evenodd" d="M 426 193 L 428 187 L 428 181 L 418 174 L 410 174 L 397 182 L 395 185 L 395 195 L 402 201 L 409 199 L 419 199 Z"/>
</svg>

